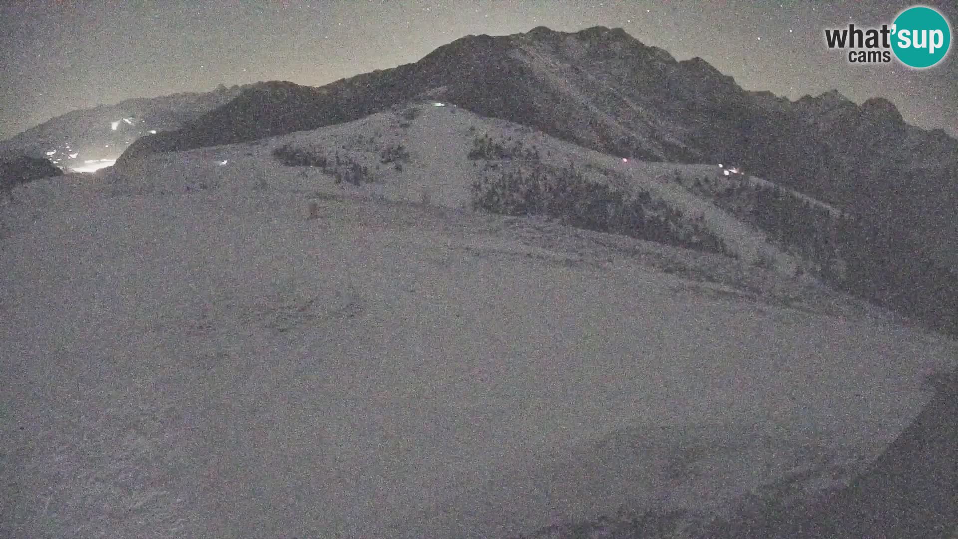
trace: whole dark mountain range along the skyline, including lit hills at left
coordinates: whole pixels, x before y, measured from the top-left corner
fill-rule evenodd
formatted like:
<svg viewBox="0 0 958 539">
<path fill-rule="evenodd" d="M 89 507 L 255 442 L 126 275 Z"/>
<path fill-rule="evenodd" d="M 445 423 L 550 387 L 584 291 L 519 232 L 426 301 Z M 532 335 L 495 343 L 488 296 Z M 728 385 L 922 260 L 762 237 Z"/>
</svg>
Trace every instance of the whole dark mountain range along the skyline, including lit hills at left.
<svg viewBox="0 0 958 539">
<path fill-rule="evenodd" d="M 468 35 L 418 62 L 321 87 L 261 82 L 130 100 L 70 113 L 11 142 L 52 147 L 86 129 L 96 134 L 81 153 L 96 158 L 111 122 L 143 118 L 130 128 L 158 132 L 133 141 L 125 162 L 318 129 L 425 98 L 598 152 L 737 165 L 856 216 L 855 231 L 836 246 L 853 266 L 845 288 L 909 312 L 925 295 L 947 303 L 956 288 L 958 140 L 907 125 L 880 98 L 856 105 L 832 91 L 791 102 L 746 91 L 705 60 L 677 61 L 622 29 Z"/>
</svg>

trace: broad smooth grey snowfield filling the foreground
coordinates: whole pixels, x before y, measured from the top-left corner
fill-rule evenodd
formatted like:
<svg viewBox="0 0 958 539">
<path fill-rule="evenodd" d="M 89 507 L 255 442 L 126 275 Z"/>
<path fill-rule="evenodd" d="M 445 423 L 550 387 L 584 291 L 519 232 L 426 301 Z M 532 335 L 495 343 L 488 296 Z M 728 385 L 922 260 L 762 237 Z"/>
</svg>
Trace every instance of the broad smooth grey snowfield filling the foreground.
<svg viewBox="0 0 958 539">
<path fill-rule="evenodd" d="M 0 535 L 506 537 L 623 504 L 720 512 L 788 474 L 848 480 L 956 357 L 858 308 L 644 262 L 681 249 L 363 198 L 267 142 L 0 207 Z"/>
</svg>

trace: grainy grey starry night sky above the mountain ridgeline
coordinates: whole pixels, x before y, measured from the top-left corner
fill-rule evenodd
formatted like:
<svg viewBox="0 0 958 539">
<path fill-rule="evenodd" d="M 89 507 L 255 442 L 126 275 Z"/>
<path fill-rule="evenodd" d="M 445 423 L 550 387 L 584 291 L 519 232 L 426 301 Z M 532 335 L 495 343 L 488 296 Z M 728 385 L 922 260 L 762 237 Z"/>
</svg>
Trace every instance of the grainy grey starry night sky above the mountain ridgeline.
<svg viewBox="0 0 958 539">
<path fill-rule="evenodd" d="M 701 57 L 746 89 L 797 99 L 837 89 L 898 105 L 906 121 L 958 136 L 958 60 L 924 71 L 852 65 L 826 27 L 891 23 L 883 1 L 240 1 L 0 2 L 0 138 L 53 116 L 219 83 L 321 85 L 414 62 L 464 35 L 544 25 L 621 27 L 676 59 Z M 952 32 L 958 3 L 924 2 Z M 954 39 L 954 36 L 952 36 Z M 952 49 L 955 45 L 952 45 Z"/>
</svg>

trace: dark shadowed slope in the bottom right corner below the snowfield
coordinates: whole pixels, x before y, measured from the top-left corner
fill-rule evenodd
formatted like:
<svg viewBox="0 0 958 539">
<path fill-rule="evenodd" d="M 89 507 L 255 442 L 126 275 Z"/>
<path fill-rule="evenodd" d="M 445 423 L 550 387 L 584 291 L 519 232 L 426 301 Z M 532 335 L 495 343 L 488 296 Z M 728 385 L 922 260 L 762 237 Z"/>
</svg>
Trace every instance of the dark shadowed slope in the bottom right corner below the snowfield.
<svg viewBox="0 0 958 539">
<path fill-rule="evenodd" d="M 958 533 L 958 373 L 845 488 L 722 519 L 699 539 L 953 539 Z"/>
</svg>

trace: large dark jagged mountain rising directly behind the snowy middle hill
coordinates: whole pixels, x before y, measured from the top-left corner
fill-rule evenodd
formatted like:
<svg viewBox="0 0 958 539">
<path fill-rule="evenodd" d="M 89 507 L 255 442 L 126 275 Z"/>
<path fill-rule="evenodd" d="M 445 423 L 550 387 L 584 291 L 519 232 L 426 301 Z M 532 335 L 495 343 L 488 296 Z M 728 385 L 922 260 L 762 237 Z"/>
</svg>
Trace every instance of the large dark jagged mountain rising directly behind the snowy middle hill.
<svg viewBox="0 0 958 539">
<path fill-rule="evenodd" d="M 603 152 L 747 160 L 750 171 L 764 176 L 813 168 L 809 161 L 818 155 L 810 150 L 827 149 L 820 160 L 829 166 L 869 171 L 879 150 L 900 149 L 883 154 L 882 162 L 936 170 L 953 165 L 954 156 L 943 156 L 958 151 L 958 142 L 941 131 L 906 126 L 883 99 L 859 106 L 828 92 L 792 103 L 742 90 L 708 62 L 676 61 L 622 29 L 566 34 L 538 27 L 519 35 L 469 35 L 416 63 L 319 88 L 267 82 L 175 135 L 148 137 L 128 156 L 316 129 L 426 93 Z M 789 146 L 787 155 L 769 151 L 776 142 Z"/>
</svg>

